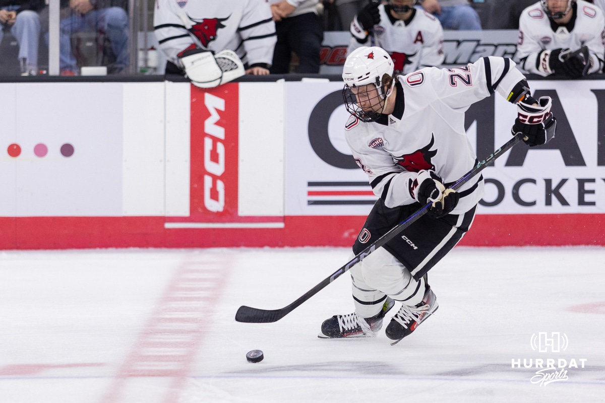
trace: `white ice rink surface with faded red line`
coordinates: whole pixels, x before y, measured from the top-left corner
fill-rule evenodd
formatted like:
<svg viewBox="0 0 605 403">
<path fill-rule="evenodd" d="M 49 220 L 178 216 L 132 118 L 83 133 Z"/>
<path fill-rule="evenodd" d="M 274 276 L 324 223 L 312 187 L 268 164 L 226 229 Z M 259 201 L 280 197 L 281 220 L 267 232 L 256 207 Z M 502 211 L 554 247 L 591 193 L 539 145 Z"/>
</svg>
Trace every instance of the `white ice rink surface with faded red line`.
<svg viewBox="0 0 605 403">
<path fill-rule="evenodd" d="M 283 308 L 348 253 L 0 252 L 0 402 L 604 401 L 604 248 L 456 248 L 430 272 L 439 311 L 396 346 L 384 330 L 316 337 L 353 311 L 348 275 L 276 323 L 234 320 Z M 567 378 L 532 383 L 536 359 Z"/>
</svg>

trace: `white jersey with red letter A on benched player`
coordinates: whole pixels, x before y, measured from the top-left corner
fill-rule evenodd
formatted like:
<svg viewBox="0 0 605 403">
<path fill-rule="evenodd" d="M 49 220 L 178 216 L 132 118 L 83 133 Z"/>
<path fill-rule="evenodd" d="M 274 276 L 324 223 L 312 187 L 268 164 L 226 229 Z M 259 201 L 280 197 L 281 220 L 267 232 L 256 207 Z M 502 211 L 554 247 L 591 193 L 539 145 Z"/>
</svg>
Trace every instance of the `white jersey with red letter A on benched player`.
<svg viewBox="0 0 605 403">
<path fill-rule="evenodd" d="M 388 7 L 378 6 L 380 24 L 374 26 L 373 46 L 383 48 L 393 59 L 396 74 L 408 74 L 423 67 L 439 67 L 445 59 L 443 53 L 443 28 L 438 19 L 424 10 L 414 8 L 408 24 L 388 14 Z M 365 44 L 352 37 L 347 54 L 362 46 L 370 45 L 368 36 Z"/>
</svg>

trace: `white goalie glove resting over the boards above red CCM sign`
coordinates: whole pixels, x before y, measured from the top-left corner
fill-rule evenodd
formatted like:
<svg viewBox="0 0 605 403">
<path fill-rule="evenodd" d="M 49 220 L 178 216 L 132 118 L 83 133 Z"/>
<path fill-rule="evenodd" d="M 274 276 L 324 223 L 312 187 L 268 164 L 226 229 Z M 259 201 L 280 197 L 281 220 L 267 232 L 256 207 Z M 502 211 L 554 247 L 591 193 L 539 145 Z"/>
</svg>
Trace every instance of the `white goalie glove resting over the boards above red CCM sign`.
<svg viewBox="0 0 605 403">
<path fill-rule="evenodd" d="M 185 76 L 200 88 L 214 88 L 246 73 L 240 58 L 228 49 L 217 54 L 204 49 L 189 49 L 181 53 L 180 62 Z"/>
</svg>

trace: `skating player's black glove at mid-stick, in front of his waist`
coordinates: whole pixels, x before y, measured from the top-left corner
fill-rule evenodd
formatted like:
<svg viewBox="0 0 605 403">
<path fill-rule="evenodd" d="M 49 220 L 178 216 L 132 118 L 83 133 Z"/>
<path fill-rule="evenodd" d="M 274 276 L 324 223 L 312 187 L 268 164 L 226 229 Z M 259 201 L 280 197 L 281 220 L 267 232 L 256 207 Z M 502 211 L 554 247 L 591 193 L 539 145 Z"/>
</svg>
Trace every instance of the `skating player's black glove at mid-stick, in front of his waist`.
<svg viewBox="0 0 605 403">
<path fill-rule="evenodd" d="M 408 183 L 410 196 L 420 204 L 433 202 L 428 208 L 428 214 L 433 218 L 441 218 L 450 214 L 458 204 L 460 195 L 456 190 L 445 189 L 443 179 L 431 170 L 418 172 L 416 178 Z"/>
</svg>

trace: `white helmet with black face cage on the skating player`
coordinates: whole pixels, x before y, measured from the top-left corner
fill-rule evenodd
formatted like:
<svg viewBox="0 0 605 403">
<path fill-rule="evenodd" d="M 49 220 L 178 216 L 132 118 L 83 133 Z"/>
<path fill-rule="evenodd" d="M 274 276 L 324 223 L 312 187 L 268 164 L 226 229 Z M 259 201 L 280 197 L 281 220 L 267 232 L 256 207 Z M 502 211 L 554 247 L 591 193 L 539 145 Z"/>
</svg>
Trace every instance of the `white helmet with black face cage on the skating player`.
<svg viewBox="0 0 605 403">
<path fill-rule="evenodd" d="M 392 82 L 393 70 L 393 59 L 382 48 L 361 47 L 348 55 L 342 68 L 347 111 L 362 121 L 377 120 L 392 88 L 384 84 Z"/>
</svg>

